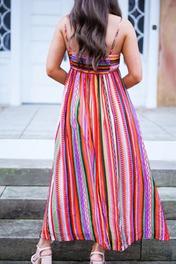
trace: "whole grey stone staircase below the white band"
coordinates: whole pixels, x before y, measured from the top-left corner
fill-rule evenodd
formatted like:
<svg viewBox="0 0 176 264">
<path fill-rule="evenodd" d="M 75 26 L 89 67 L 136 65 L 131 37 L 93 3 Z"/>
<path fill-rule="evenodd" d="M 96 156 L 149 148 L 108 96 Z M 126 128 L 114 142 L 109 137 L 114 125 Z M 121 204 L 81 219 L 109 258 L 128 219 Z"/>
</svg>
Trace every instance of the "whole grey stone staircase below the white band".
<svg viewBox="0 0 176 264">
<path fill-rule="evenodd" d="M 17 163 L 15 163 L 17 164 Z M 141 239 L 122 251 L 105 251 L 107 264 L 176 263 L 176 163 L 152 161 L 151 172 L 161 196 L 169 241 Z M 30 263 L 42 228 L 51 163 L 6 164 L 0 168 L 0 263 Z M 38 168 L 37 168 L 38 167 Z M 89 264 L 93 241 L 54 241 L 53 263 Z"/>
</svg>

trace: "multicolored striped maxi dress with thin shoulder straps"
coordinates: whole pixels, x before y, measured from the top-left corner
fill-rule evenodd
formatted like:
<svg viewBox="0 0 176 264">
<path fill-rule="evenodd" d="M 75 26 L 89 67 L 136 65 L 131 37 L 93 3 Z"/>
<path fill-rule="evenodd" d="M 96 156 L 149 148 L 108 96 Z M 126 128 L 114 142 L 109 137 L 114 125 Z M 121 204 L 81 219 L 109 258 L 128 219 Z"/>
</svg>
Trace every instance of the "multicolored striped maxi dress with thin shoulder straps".
<svg viewBox="0 0 176 264">
<path fill-rule="evenodd" d="M 79 66 L 68 45 L 70 70 L 39 237 L 93 240 L 116 251 L 138 239 L 169 240 L 137 114 L 120 75 L 120 54 L 112 55 L 112 46 L 95 72 L 86 56 Z"/>
</svg>

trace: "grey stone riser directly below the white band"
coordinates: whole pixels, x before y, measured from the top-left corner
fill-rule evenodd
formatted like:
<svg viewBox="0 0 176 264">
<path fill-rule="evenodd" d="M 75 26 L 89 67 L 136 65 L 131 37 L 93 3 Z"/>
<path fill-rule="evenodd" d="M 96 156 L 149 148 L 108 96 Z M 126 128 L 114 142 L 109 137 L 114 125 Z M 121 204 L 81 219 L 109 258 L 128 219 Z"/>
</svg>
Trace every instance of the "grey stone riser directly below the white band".
<svg viewBox="0 0 176 264">
<path fill-rule="evenodd" d="M 151 174 L 158 187 L 176 187 L 176 168 L 151 169 Z M 48 186 L 50 175 L 51 168 L 0 168 L 0 185 Z"/>
</svg>

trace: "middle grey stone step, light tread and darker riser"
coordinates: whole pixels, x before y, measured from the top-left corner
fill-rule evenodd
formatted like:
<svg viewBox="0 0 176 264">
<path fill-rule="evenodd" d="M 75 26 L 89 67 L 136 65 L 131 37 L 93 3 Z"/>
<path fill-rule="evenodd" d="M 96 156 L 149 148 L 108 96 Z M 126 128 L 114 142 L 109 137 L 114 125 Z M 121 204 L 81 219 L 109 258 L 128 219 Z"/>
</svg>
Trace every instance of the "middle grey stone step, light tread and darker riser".
<svg viewBox="0 0 176 264">
<path fill-rule="evenodd" d="M 0 218 L 43 219 L 49 187 L 1 186 Z M 165 219 L 176 219 L 176 187 L 158 187 Z"/>
</svg>

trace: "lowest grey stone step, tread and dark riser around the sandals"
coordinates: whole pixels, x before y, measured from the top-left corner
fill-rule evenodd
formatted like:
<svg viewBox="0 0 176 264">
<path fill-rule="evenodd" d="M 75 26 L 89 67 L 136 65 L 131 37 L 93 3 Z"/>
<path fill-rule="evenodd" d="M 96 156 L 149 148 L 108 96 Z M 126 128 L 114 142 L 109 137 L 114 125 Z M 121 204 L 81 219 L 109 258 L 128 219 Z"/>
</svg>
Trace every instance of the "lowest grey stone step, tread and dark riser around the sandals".
<svg viewBox="0 0 176 264">
<path fill-rule="evenodd" d="M 106 260 L 109 263 L 115 260 L 176 260 L 176 220 L 166 222 L 170 240 L 139 239 L 125 251 L 105 251 Z M 5 219 L 0 220 L 0 228 L 1 260 L 30 260 L 39 241 L 42 220 Z M 93 243 L 91 240 L 52 241 L 53 260 L 88 261 Z"/>
</svg>

